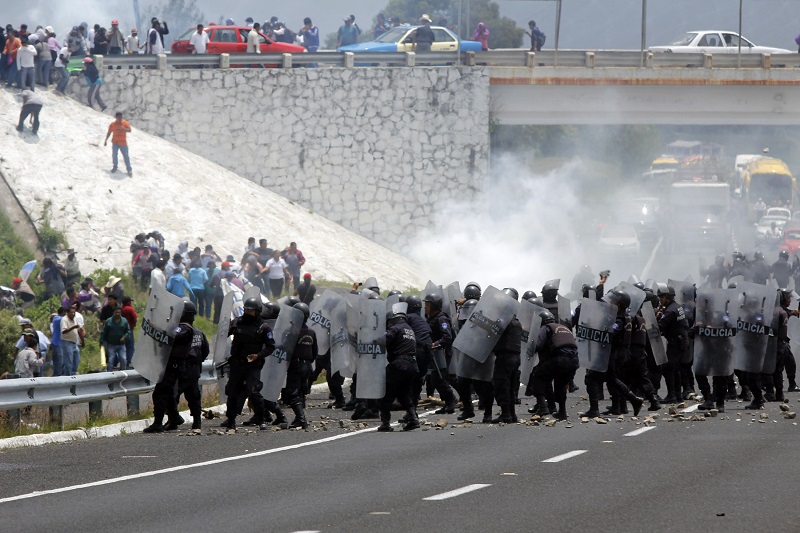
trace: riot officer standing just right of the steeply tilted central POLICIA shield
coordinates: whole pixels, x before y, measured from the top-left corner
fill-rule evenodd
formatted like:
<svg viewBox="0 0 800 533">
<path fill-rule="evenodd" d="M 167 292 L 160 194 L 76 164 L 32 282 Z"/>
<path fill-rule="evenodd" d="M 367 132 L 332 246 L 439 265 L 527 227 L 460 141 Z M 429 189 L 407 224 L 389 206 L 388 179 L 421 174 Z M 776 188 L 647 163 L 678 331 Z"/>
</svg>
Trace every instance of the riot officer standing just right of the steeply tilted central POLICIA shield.
<svg viewBox="0 0 800 533">
<path fill-rule="evenodd" d="M 519 297 L 516 289 L 513 288 L 503 289 L 503 292 L 515 300 Z M 492 424 L 516 423 L 513 381 L 514 379 L 519 380 L 520 352 L 522 351 L 522 324 L 516 316 L 503 330 L 493 351 L 496 359 L 492 376 L 492 391 L 494 399 L 500 407 L 500 416 L 491 422 Z"/>
</svg>

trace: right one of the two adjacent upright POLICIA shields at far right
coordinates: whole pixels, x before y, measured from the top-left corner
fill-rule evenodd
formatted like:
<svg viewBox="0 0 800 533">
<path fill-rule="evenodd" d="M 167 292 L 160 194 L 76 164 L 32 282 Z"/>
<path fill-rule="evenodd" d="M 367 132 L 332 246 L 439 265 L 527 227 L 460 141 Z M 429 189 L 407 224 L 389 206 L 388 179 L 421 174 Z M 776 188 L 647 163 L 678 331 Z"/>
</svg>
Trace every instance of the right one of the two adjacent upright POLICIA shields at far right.
<svg viewBox="0 0 800 533">
<path fill-rule="evenodd" d="M 734 367 L 745 372 L 761 373 L 778 293 L 772 287 L 747 281 L 737 284 L 736 293 L 739 298 L 739 317 Z"/>
</svg>

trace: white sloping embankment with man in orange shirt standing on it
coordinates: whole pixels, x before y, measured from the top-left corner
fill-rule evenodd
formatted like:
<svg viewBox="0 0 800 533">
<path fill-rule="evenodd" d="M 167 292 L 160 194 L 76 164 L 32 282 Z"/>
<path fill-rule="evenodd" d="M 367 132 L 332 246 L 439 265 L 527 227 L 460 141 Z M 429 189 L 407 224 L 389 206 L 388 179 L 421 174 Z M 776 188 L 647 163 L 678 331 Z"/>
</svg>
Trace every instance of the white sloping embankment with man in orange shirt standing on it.
<svg viewBox="0 0 800 533">
<path fill-rule="evenodd" d="M 159 230 L 171 250 L 182 240 L 190 246 L 210 243 L 223 257 L 231 253 L 237 259 L 251 236 L 267 238 L 273 248 L 297 241 L 307 271 L 316 277 L 376 276 L 385 288 L 420 286 L 418 267 L 403 256 L 139 131 L 135 123 L 128 134 L 134 175 L 125 174 L 122 161 L 122 172 L 111 174 L 111 145 L 103 147 L 103 138 L 113 108 L 103 114 L 70 98 L 41 94 L 42 125 L 34 137 L 27 126 L 22 134 L 15 129 L 17 91 L 0 90 L 0 168 L 37 225 L 49 214 L 52 226 L 66 233 L 84 272 L 129 268 L 133 236 Z M 164 115 L 170 120 L 168 110 Z M 214 143 L 213 131 L 207 142 Z"/>
</svg>

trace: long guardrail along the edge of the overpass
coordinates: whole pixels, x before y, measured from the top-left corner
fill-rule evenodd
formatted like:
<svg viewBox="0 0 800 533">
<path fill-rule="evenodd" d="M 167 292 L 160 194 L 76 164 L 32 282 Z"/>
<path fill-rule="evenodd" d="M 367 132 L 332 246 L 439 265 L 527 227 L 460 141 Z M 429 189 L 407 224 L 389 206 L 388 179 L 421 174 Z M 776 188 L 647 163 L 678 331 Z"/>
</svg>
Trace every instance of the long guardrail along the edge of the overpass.
<svg viewBox="0 0 800 533">
<path fill-rule="evenodd" d="M 290 67 L 362 67 L 418 65 L 481 65 L 488 67 L 572 68 L 800 68 L 800 54 L 703 54 L 639 50 L 498 49 L 487 52 L 335 52 L 304 54 L 161 54 L 95 56 L 99 68 L 230 68 L 274 65 Z"/>
</svg>

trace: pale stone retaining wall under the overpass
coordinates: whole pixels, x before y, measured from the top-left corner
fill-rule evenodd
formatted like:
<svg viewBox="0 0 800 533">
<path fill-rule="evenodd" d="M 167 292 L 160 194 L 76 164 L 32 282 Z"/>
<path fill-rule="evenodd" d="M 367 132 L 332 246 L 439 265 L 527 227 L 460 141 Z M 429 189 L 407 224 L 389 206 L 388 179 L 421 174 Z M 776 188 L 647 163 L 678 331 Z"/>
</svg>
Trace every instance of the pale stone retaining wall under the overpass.
<svg viewBox="0 0 800 533">
<path fill-rule="evenodd" d="M 394 249 L 480 189 L 485 69 L 106 70 L 107 112 Z M 85 86 L 73 83 L 85 101 Z M 255 206 L 254 206 L 255 207 Z M 258 206 L 269 209 L 269 206 Z"/>
</svg>

